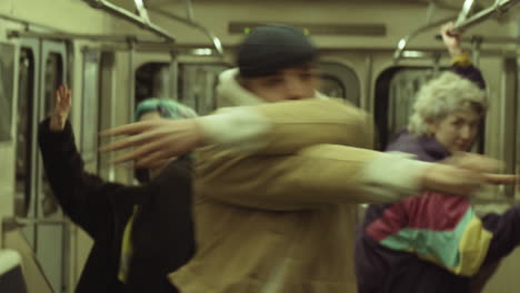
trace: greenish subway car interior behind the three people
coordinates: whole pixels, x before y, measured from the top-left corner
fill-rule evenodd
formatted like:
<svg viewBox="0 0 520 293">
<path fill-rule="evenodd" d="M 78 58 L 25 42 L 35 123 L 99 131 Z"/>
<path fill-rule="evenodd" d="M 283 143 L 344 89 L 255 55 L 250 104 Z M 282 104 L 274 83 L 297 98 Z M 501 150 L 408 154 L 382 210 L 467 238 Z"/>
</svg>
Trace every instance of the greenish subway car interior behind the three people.
<svg viewBox="0 0 520 293">
<path fill-rule="evenodd" d="M 131 168 L 99 152 L 107 142 L 99 132 L 132 122 L 136 104 L 150 97 L 211 113 L 219 107 L 219 73 L 233 67 L 238 43 L 262 23 L 291 24 L 311 38 L 319 48 L 321 91 L 371 113 L 374 148 L 383 149 L 407 124 L 419 88 L 449 69 L 437 36 L 442 23 L 460 21 L 463 48 L 483 73 L 491 104 L 474 151 L 518 173 L 519 2 L 1 0 L 0 256 L 20 255 L 27 292 L 68 293 L 92 245 L 53 199 L 38 148 L 38 124 L 52 110 L 60 84 L 72 91 L 70 121 L 86 168 L 133 184 Z M 474 205 L 500 213 L 518 200 L 518 189 L 494 188 Z M 518 292 L 519 271 L 516 251 L 483 292 Z"/>
</svg>

